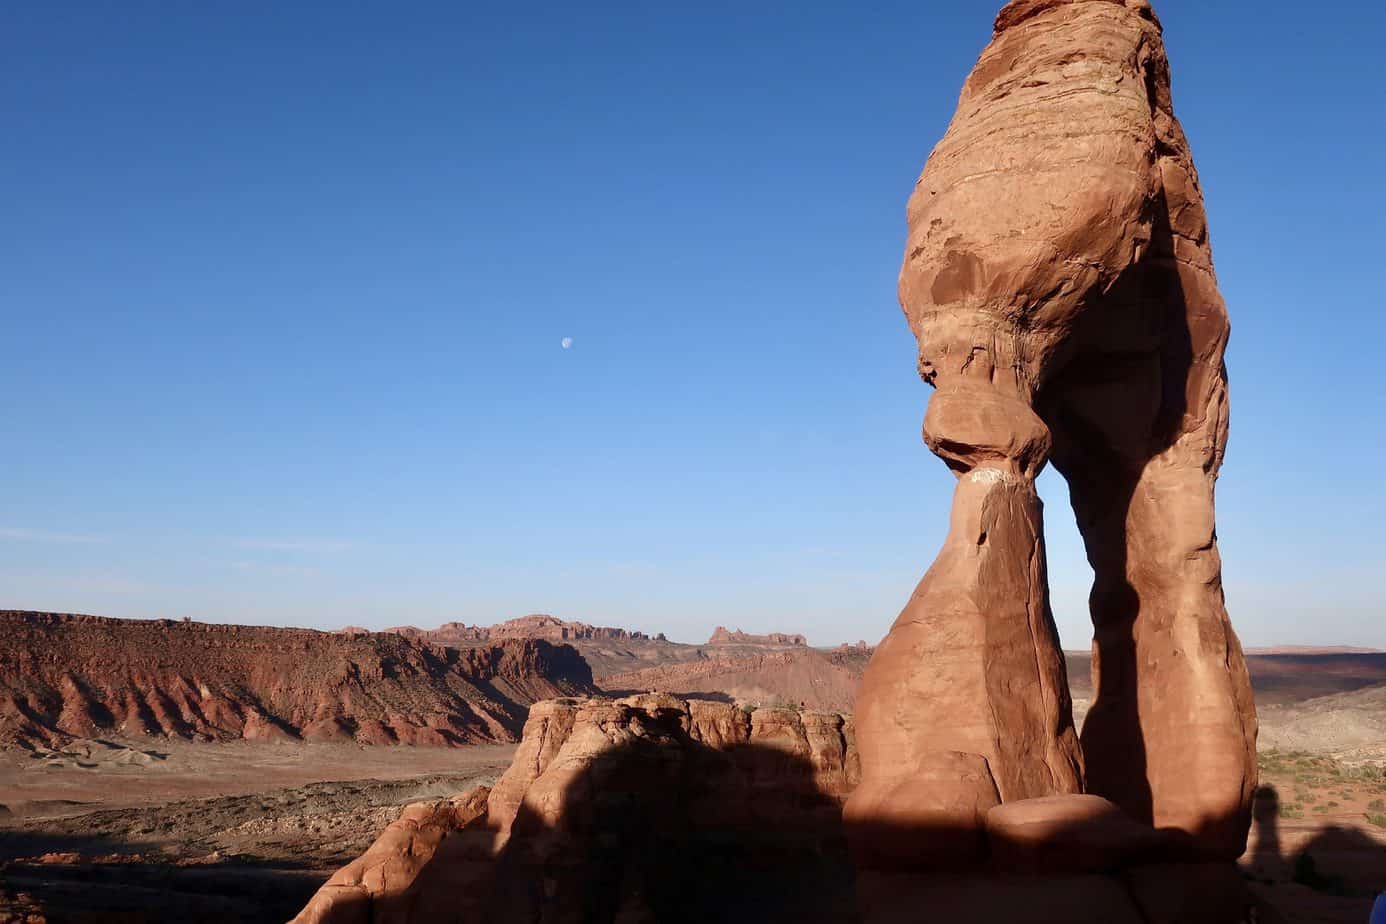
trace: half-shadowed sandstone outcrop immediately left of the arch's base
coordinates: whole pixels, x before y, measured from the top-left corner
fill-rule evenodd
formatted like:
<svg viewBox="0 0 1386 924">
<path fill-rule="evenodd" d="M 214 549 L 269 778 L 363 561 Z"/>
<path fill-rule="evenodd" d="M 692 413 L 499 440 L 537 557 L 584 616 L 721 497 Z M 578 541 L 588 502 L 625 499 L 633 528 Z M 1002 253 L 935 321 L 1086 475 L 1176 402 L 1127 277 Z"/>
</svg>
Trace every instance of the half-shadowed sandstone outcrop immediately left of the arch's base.
<svg viewBox="0 0 1386 924">
<path fill-rule="evenodd" d="M 294 924 L 848 921 L 857 773 L 839 715 L 539 702 L 492 790 L 407 809 Z"/>
</svg>

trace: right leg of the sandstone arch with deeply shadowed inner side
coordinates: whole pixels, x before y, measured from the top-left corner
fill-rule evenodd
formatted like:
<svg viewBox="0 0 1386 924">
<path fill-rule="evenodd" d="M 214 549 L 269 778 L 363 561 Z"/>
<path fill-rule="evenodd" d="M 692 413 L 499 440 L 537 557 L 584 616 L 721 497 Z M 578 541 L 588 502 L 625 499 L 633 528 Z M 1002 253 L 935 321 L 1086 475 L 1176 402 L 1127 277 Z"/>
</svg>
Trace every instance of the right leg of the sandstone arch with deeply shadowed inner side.
<svg viewBox="0 0 1386 924">
<path fill-rule="evenodd" d="M 1149 254 L 1080 321 L 1040 403 L 1094 569 L 1088 791 L 1234 859 L 1256 788 L 1256 708 L 1214 524 L 1228 326 L 1192 166 L 1161 168 Z"/>
</svg>

